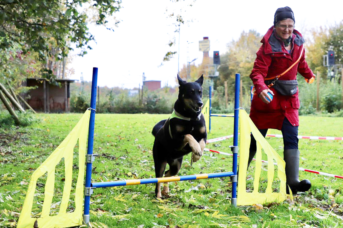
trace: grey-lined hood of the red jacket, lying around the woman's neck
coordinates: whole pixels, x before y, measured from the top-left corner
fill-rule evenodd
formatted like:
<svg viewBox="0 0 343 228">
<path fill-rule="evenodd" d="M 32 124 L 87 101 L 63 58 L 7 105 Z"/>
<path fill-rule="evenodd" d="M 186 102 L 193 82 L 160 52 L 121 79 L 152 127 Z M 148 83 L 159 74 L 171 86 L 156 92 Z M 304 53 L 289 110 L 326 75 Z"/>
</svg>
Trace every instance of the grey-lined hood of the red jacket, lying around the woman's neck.
<svg viewBox="0 0 343 228">
<path fill-rule="evenodd" d="M 274 26 L 272 26 L 268 29 L 267 33 L 261 40 L 261 43 L 265 44 L 265 53 L 283 52 L 282 45 L 280 43 L 280 38 L 277 38 L 276 35 L 274 35 L 274 33 Z M 292 41 L 297 46 L 301 46 L 303 45 L 303 43 L 305 43 L 305 40 L 301 33 L 295 29 L 292 33 Z"/>
</svg>

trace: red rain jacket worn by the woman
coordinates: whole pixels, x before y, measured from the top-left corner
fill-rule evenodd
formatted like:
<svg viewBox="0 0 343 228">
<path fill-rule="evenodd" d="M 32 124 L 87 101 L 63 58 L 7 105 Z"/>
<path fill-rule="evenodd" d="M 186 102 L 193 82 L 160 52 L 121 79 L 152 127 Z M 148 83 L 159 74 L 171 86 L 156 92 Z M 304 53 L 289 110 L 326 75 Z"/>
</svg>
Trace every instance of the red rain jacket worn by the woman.
<svg viewBox="0 0 343 228">
<path fill-rule="evenodd" d="M 261 40 L 261 47 L 256 53 L 257 57 L 250 78 L 255 86 L 256 94 L 252 98 L 250 118 L 258 129 L 278 129 L 281 130 L 282 122 L 286 117 L 294 126 L 299 126 L 299 97 L 298 91 L 292 96 L 284 96 L 277 93 L 273 87 L 270 89 L 274 93 L 273 100 L 265 104 L 258 94 L 262 90 L 268 89 L 264 83 L 265 78 L 275 77 L 283 73 L 299 58 L 304 38 L 300 32 L 294 30 L 292 33 L 292 51 L 288 54 L 283 42 L 276 37 L 274 26 L 272 26 Z M 295 80 L 299 72 L 304 78 L 314 77 L 314 73 L 305 61 L 305 50 L 299 62 L 279 80 Z"/>
</svg>

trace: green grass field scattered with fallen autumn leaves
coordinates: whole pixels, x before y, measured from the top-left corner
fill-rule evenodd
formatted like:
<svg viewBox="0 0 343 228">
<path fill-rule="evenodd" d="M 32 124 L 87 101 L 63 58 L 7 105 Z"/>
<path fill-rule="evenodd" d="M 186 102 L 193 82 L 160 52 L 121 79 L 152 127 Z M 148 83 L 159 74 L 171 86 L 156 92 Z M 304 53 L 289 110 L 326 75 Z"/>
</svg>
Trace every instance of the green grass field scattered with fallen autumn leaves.
<svg viewBox="0 0 343 228">
<path fill-rule="evenodd" d="M 71 131 L 82 114 L 38 114 L 39 122 L 28 127 L 0 130 L 0 227 L 13 227 L 21 212 L 29 178 Z M 169 115 L 97 114 L 92 182 L 154 177 L 151 130 Z M 300 117 L 299 135 L 343 136 L 343 118 Z M 272 130 L 272 134 L 281 132 Z M 233 118 L 213 117 L 208 139 L 233 134 Z M 282 138 L 268 142 L 283 157 Z M 232 138 L 206 145 L 231 153 Z M 300 167 L 343 175 L 343 141 L 299 139 Z M 76 150 L 75 150 L 76 151 Z M 77 156 L 74 156 L 76 179 Z M 266 160 L 266 157 L 262 157 Z M 252 162 L 252 166 L 255 162 Z M 267 167 L 267 166 L 262 166 Z M 51 216 L 58 213 L 64 186 L 64 166 L 55 173 L 55 195 Z M 232 157 L 205 152 L 190 166 L 184 158 L 179 175 L 232 171 Z M 254 168 L 248 170 L 252 188 Z M 260 183 L 265 185 L 265 171 Z M 229 178 L 170 183 L 168 198 L 154 198 L 154 185 L 95 189 L 91 197 L 93 227 L 343 227 L 343 179 L 299 171 L 312 182 L 309 192 L 293 201 L 232 207 Z M 39 179 L 33 217 L 39 217 L 44 200 L 45 178 Z M 263 187 L 262 187 L 263 190 Z M 239 197 L 239 194 L 237 195 Z M 68 210 L 73 211 L 73 199 Z"/>
</svg>

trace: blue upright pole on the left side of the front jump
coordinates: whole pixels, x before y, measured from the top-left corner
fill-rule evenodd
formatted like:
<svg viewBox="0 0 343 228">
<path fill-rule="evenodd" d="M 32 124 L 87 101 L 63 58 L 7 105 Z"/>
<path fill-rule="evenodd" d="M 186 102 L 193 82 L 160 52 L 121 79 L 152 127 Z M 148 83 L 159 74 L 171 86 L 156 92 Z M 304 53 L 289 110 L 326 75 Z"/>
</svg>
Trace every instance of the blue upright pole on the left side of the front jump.
<svg viewBox="0 0 343 228">
<path fill-rule="evenodd" d="M 93 189 L 91 188 L 91 177 L 92 177 L 92 155 L 93 155 L 97 80 L 98 80 L 98 68 L 93 67 L 91 117 L 89 120 L 89 129 L 88 129 L 88 150 L 87 150 L 86 180 L 85 180 L 85 192 L 84 192 L 85 202 L 84 202 L 84 211 L 83 211 L 83 222 L 85 224 L 89 223 L 89 204 L 90 204 L 91 194 L 93 191 Z"/>
</svg>

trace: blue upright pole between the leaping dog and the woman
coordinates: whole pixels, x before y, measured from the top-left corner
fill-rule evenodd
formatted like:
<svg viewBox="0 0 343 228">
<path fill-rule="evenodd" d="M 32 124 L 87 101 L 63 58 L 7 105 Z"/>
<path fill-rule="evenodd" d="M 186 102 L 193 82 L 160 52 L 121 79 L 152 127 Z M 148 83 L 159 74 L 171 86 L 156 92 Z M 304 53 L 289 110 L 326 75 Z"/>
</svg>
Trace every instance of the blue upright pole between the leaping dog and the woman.
<svg viewBox="0 0 343 228">
<path fill-rule="evenodd" d="M 232 181 L 232 198 L 231 204 L 237 205 L 237 153 L 238 153 L 238 115 L 239 115 L 239 83 L 240 83 L 240 74 L 236 73 L 235 81 L 235 117 L 234 117 L 234 145 L 232 147 L 233 151 L 233 162 L 232 162 L 232 172 L 236 176 L 236 181 Z"/>
</svg>

